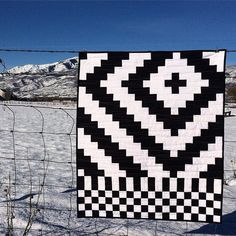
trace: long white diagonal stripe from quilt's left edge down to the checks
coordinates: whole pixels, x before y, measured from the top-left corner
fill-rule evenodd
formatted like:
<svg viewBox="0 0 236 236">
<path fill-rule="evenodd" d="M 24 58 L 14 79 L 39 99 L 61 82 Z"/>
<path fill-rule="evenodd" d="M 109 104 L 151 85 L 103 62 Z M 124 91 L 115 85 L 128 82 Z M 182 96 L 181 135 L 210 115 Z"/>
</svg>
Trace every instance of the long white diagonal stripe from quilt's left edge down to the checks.
<svg viewBox="0 0 236 236">
<path fill-rule="evenodd" d="M 119 148 L 126 150 L 127 156 L 133 156 L 134 163 L 140 163 L 142 170 L 148 170 L 149 177 L 156 177 L 157 173 L 160 178 L 169 177 L 169 171 L 163 171 L 163 165 L 156 164 L 155 157 L 148 156 L 148 151 L 142 150 L 140 143 L 134 143 L 133 137 L 127 136 L 119 122 L 113 121 L 112 115 L 106 114 L 105 108 L 99 107 L 99 102 L 94 101 L 91 94 L 86 94 L 84 87 L 79 88 L 79 97 L 79 107 L 85 108 L 85 113 L 91 115 L 92 121 L 98 122 L 99 128 L 105 129 L 106 135 L 112 136 L 112 142 L 119 143 Z M 89 146 L 83 147 L 88 149 Z"/>
</svg>

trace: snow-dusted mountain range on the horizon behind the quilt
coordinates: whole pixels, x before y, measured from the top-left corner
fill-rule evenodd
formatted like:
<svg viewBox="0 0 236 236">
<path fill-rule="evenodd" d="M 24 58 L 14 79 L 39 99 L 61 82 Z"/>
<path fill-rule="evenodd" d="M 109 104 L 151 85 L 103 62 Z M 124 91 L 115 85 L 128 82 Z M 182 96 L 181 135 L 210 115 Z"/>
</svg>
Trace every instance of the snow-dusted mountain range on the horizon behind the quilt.
<svg viewBox="0 0 236 236">
<path fill-rule="evenodd" d="M 44 65 L 24 65 L 0 73 L 0 89 L 16 99 L 54 100 L 77 97 L 78 58 Z M 226 89 L 236 87 L 236 65 L 227 66 Z"/>
</svg>

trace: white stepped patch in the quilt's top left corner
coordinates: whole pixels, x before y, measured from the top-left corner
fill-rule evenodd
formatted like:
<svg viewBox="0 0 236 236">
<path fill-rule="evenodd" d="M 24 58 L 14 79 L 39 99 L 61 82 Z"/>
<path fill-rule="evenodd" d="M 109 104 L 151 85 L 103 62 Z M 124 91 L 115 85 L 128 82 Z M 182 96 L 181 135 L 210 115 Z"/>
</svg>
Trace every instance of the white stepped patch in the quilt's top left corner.
<svg viewBox="0 0 236 236">
<path fill-rule="evenodd" d="M 88 53 L 87 59 L 80 60 L 79 79 L 86 80 L 86 75 L 94 73 L 94 67 L 101 66 L 102 60 L 107 60 L 107 53 Z"/>
</svg>

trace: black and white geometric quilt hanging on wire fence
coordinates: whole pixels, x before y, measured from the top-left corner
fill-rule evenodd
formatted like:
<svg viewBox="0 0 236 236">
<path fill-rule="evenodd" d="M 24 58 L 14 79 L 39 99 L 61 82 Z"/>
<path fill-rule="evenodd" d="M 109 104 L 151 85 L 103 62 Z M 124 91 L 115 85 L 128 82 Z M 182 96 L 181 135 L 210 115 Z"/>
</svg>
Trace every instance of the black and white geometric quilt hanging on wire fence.
<svg viewBox="0 0 236 236">
<path fill-rule="evenodd" d="M 81 52 L 78 217 L 221 222 L 225 50 Z"/>
</svg>

